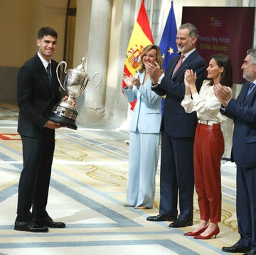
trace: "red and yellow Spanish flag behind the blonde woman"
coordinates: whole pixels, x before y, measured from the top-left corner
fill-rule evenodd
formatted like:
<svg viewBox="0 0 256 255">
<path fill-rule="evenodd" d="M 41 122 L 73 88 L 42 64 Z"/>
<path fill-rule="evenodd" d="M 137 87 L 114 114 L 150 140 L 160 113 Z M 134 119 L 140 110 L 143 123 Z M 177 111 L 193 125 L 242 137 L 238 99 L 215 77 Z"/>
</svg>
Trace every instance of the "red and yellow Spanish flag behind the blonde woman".
<svg viewBox="0 0 256 255">
<path fill-rule="evenodd" d="M 129 40 L 127 47 L 127 53 L 125 55 L 124 73 L 129 77 L 134 76 L 139 69 L 139 56 L 142 54 L 142 50 L 146 45 L 153 44 L 154 40 L 151 34 L 149 26 L 149 19 L 146 15 L 146 9 L 144 6 L 144 0 L 139 9 L 137 21 L 134 25 L 132 36 Z M 123 81 L 122 87 L 125 87 Z M 131 109 L 134 109 L 136 100 L 131 102 Z"/>
</svg>

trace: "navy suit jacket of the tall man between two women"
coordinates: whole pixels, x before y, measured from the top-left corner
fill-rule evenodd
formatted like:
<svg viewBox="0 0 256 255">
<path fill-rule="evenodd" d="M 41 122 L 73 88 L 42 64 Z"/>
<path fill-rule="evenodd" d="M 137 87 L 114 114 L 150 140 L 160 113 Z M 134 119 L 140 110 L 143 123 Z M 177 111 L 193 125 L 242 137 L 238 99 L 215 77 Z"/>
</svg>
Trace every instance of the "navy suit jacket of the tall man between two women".
<svg viewBox="0 0 256 255">
<path fill-rule="evenodd" d="M 193 69 L 196 72 L 196 87 L 199 91 L 206 77 L 206 62 L 195 50 L 188 58 L 185 58 L 174 77 L 171 77 L 179 58 L 180 56 L 176 56 L 171 59 L 161 84 L 153 90 L 156 94 L 166 94 L 161 130 L 164 129 L 172 137 L 193 137 L 197 121 L 196 112 L 187 114 L 181 107 L 185 94 L 184 72 L 187 69 Z"/>
</svg>

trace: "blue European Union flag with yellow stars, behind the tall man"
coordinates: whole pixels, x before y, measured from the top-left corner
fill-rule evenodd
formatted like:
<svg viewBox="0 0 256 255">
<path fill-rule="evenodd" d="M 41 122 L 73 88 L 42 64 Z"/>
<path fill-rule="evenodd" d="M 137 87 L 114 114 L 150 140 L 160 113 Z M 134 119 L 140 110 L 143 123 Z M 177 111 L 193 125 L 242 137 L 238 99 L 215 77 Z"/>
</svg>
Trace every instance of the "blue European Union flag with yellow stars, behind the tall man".
<svg viewBox="0 0 256 255">
<path fill-rule="evenodd" d="M 171 9 L 167 17 L 164 32 L 161 37 L 159 48 L 163 58 L 164 71 L 167 69 L 171 58 L 178 55 L 178 48 L 176 45 L 177 27 L 174 15 L 174 1 L 171 1 Z"/>
</svg>

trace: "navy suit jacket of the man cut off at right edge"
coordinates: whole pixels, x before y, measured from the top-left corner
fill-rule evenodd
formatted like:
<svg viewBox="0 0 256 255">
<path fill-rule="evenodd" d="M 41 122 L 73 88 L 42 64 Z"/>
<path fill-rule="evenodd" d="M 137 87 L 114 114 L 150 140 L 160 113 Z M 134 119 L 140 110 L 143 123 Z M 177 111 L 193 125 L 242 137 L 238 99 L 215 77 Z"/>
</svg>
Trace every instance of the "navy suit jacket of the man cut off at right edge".
<svg viewBox="0 0 256 255">
<path fill-rule="evenodd" d="M 223 114 L 234 121 L 233 160 L 242 168 L 256 168 L 256 88 L 246 97 L 245 82 L 237 99 L 230 99 Z"/>
</svg>

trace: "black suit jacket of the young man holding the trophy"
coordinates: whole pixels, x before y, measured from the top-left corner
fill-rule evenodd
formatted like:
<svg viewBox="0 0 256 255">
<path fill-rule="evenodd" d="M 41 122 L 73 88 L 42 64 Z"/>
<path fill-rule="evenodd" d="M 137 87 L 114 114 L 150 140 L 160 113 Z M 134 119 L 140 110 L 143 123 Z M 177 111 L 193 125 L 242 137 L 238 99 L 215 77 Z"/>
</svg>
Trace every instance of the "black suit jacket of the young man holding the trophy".
<svg viewBox="0 0 256 255">
<path fill-rule="evenodd" d="M 53 106 L 61 99 L 56 75 L 57 65 L 57 62 L 51 60 L 52 84 L 37 54 L 18 71 L 19 134 L 38 139 L 43 138 L 45 133 L 54 134 L 53 129 L 46 129 L 44 126 Z"/>
</svg>

